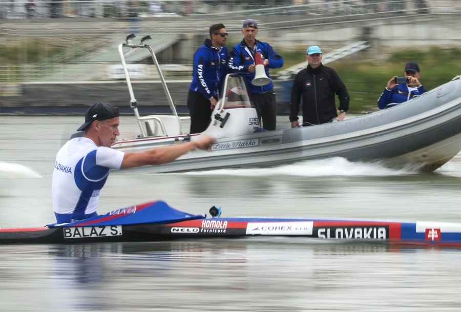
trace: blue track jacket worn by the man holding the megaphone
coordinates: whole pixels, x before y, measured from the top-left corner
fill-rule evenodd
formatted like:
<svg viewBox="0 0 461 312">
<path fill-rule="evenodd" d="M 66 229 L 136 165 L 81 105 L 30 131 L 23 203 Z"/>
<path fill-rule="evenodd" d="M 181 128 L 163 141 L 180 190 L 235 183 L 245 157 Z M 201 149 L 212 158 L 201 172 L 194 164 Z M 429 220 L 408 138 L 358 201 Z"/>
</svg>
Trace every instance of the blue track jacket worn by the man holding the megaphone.
<svg viewBox="0 0 461 312">
<path fill-rule="evenodd" d="M 256 73 L 248 72 L 248 66 L 255 64 L 255 52 L 261 52 L 263 58 L 269 60 L 269 65 L 264 67 L 267 77 L 270 78 L 269 68 L 283 66 L 283 58 L 268 43 L 256 40 L 255 51 L 253 51 L 246 45 L 245 40 L 242 40 L 229 54 L 228 70 L 231 73 L 240 73 L 246 78 L 250 93 L 265 93 L 274 88 L 272 82 L 265 86 L 255 86 L 252 80 Z"/>
</svg>

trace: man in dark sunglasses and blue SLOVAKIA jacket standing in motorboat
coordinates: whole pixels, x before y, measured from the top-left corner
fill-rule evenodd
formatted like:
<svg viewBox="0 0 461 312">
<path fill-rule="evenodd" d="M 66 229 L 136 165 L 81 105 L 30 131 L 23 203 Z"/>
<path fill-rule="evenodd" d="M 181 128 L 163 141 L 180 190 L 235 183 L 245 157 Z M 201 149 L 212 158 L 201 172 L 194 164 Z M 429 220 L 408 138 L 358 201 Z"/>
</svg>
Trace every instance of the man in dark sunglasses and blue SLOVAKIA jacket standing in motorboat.
<svg viewBox="0 0 461 312">
<path fill-rule="evenodd" d="M 192 82 L 187 95 L 187 107 L 191 113 L 191 134 L 208 128 L 211 115 L 221 97 L 222 85 L 227 74 L 227 32 L 223 24 L 209 28 L 209 39 L 194 54 Z"/>
</svg>

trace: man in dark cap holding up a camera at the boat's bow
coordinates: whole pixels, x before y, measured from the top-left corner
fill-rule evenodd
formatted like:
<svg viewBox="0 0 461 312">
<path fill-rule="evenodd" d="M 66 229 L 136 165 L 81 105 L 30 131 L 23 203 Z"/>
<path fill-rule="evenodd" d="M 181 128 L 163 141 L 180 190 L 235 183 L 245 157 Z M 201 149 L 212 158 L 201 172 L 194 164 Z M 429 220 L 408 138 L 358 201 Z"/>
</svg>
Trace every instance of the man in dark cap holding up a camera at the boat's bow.
<svg viewBox="0 0 461 312">
<path fill-rule="evenodd" d="M 378 99 L 380 110 L 397 106 L 426 92 L 418 80 L 421 77 L 421 72 L 417 63 L 408 62 L 404 72 L 405 77 L 394 76 L 387 82 L 386 89 Z"/>
</svg>

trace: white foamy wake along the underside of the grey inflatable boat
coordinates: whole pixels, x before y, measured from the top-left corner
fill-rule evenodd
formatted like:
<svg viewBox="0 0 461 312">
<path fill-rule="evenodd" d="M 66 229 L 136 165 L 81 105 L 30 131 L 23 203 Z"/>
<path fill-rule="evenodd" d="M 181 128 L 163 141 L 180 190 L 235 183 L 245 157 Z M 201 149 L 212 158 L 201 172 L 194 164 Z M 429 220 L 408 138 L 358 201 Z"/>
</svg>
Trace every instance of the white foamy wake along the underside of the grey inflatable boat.
<svg viewBox="0 0 461 312">
<path fill-rule="evenodd" d="M 235 175 L 235 176 L 401 176 L 421 174 L 421 164 L 407 164 L 402 168 L 386 167 L 382 161 L 357 162 L 343 157 L 305 160 L 294 164 L 272 168 L 219 169 L 212 171 L 188 172 L 188 175 Z"/>
</svg>

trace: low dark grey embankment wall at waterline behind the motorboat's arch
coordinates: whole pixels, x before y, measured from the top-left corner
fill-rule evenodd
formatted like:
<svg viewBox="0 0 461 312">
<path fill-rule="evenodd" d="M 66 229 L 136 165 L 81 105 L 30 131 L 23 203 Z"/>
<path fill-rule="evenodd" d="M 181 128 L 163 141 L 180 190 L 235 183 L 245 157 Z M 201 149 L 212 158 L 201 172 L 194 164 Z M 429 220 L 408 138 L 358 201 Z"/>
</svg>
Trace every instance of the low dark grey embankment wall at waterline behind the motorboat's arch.
<svg viewBox="0 0 461 312">
<path fill-rule="evenodd" d="M 168 88 L 178 113 L 186 106 L 190 82 L 171 81 Z M 132 113 L 126 82 L 72 82 L 2 84 L 2 114 L 81 114 L 95 102 L 118 106 L 121 113 Z M 134 82 L 133 91 L 142 114 L 170 113 L 160 82 Z"/>
</svg>

